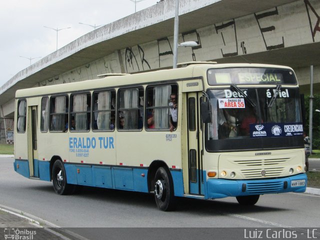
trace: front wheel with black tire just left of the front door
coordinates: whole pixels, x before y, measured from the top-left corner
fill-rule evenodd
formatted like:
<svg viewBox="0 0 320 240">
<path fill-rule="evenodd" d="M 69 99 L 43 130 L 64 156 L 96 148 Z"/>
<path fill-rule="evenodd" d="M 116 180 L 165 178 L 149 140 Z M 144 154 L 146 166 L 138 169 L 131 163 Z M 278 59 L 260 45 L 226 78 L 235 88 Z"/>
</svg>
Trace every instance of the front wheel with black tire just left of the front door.
<svg viewBox="0 0 320 240">
<path fill-rule="evenodd" d="M 159 167 L 155 172 L 154 198 L 157 207 L 162 211 L 170 211 L 175 208 L 172 178 L 164 167 Z"/>
</svg>

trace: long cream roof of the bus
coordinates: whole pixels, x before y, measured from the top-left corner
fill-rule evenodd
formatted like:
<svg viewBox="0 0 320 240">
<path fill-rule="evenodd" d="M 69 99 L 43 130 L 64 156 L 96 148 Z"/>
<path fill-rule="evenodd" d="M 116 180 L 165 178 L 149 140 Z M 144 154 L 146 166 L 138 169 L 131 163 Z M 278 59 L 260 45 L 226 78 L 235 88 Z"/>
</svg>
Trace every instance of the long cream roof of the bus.
<svg viewBox="0 0 320 240">
<path fill-rule="evenodd" d="M 202 78 L 205 76 L 207 69 L 209 68 L 224 68 L 224 67 L 271 67 L 271 68 L 286 68 L 292 70 L 292 68 L 281 65 L 270 64 L 256 64 L 256 63 L 222 63 L 212 64 L 213 62 L 189 62 L 184 64 L 184 67 L 175 69 L 163 69 L 156 71 L 148 71 L 136 74 L 106 74 L 106 77 L 102 77 L 104 74 L 100 74 L 96 79 L 55 84 L 50 86 L 39 86 L 33 88 L 19 89 L 15 93 L 16 98 L 37 96 L 44 94 L 59 94 L 65 92 L 74 91 L 88 91 L 93 89 L 111 88 L 111 87 L 123 87 L 133 84 L 149 84 L 156 83 L 165 80 L 174 79 L 190 79 L 190 78 Z M 293 70 L 292 70 L 293 71 Z M 98 78 L 100 77 L 100 78 Z"/>
</svg>

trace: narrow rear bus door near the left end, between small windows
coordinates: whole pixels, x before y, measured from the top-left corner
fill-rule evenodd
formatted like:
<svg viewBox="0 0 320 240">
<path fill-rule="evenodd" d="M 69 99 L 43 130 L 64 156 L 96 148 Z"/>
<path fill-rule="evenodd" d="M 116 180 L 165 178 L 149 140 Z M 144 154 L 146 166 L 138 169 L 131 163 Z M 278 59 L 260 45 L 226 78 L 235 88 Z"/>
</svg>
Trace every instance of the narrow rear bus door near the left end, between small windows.
<svg viewBox="0 0 320 240">
<path fill-rule="evenodd" d="M 38 151 L 37 151 L 37 106 L 29 107 L 29 123 L 28 123 L 28 141 L 31 144 L 28 146 L 28 159 L 29 159 L 29 170 L 31 177 L 39 177 L 38 168 Z"/>
</svg>

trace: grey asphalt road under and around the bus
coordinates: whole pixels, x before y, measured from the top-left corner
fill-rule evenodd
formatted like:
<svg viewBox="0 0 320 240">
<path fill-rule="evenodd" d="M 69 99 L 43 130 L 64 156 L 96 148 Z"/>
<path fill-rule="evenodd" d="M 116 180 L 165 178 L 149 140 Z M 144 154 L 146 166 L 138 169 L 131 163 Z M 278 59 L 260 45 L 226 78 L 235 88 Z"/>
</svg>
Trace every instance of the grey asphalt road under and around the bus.
<svg viewBox="0 0 320 240">
<path fill-rule="evenodd" d="M 221 227 L 241 227 L 233 229 L 240 232 L 232 234 L 237 237 L 234 239 L 242 239 L 243 236 L 238 234 L 243 235 L 243 228 L 247 227 L 308 227 L 320 232 L 318 195 L 266 194 L 260 196 L 256 205 L 251 207 L 240 206 L 233 197 L 217 200 L 181 198 L 178 199 L 176 211 L 162 212 L 156 208 L 153 195 L 144 193 L 84 187 L 80 194 L 57 195 L 51 182 L 28 179 L 14 172 L 13 158 L 0 158 L 0 204 L 61 227 L 76 227 L 72 229 L 89 239 L 103 239 L 105 234 L 108 234 L 107 239 L 118 239 L 111 237 L 111 232 L 117 232 L 117 236 L 130 236 L 132 239 L 132 231 L 137 236 L 142 233 L 143 236 L 150 234 L 152 238 L 158 234 L 163 235 L 161 227 L 170 227 L 165 232 L 173 231 L 172 229 L 176 229 L 175 232 L 181 231 L 180 228 L 171 227 L 192 227 L 180 233 L 180 236 L 185 235 L 188 239 L 196 234 L 190 229 L 200 229 L 198 227 L 215 227 L 216 230 L 223 229 Z M 94 227 L 112 228 L 97 230 Z M 145 230 L 136 227 L 150 228 Z M 225 239 L 233 239 L 228 235 L 230 230 L 223 232 L 226 234 Z M 207 230 L 206 236 L 216 239 L 211 234 Z M 320 234 L 316 236 L 320 239 Z"/>
</svg>

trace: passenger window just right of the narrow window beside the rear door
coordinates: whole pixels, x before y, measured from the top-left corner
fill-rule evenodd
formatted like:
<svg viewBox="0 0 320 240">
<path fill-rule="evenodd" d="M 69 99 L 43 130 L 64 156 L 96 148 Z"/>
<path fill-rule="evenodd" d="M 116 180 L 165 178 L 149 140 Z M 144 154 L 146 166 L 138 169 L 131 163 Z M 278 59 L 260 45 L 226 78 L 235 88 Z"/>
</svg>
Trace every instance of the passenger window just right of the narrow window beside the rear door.
<svg viewBox="0 0 320 240">
<path fill-rule="evenodd" d="M 68 96 L 50 97 L 50 131 L 67 130 L 68 105 Z"/>
</svg>

